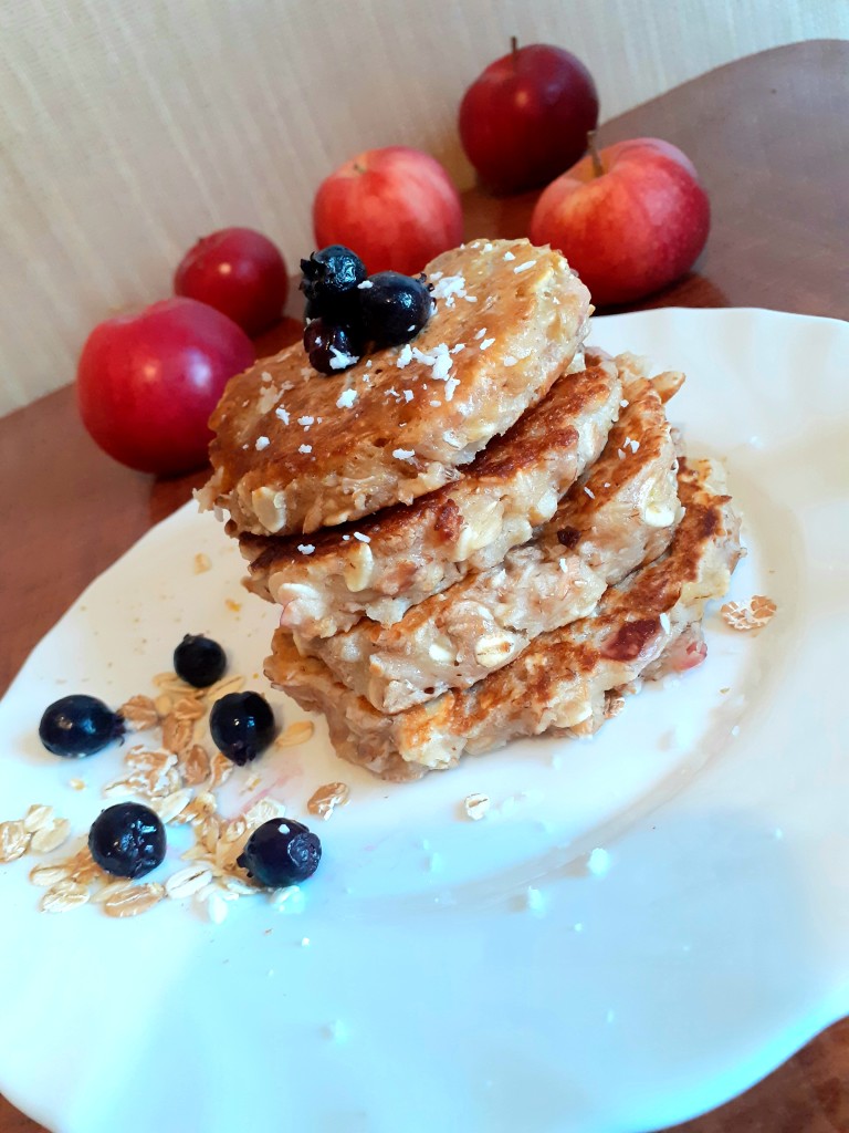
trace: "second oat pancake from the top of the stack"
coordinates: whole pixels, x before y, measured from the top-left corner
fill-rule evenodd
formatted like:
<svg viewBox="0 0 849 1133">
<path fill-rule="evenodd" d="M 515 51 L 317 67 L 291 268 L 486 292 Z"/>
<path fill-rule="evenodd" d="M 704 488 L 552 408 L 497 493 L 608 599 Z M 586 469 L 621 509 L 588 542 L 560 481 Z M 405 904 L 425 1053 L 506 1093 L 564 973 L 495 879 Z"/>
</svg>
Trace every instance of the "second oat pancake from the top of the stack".
<svg viewBox="0 0 849 1133">
<path fill-rule="evenodd" d="M 331 637 L 363 614 L 397 622 L 530 539 L 598 458 L 620 399 L 614 360 L 588 351 L 585 368 L 561 376 L 455 484 L 308 540 L 242 536 L 249 588 L 277 602 L 281 624 L 302 637 Z"/>
</svg>

